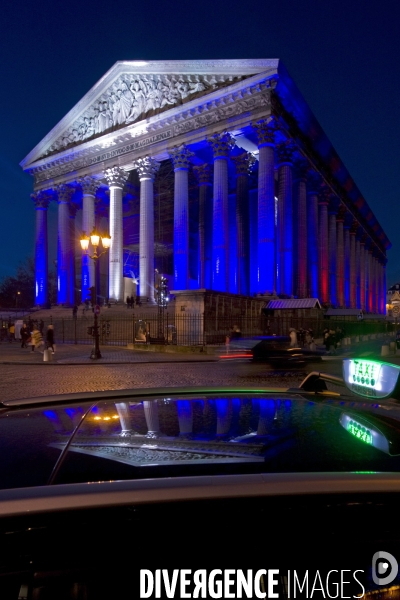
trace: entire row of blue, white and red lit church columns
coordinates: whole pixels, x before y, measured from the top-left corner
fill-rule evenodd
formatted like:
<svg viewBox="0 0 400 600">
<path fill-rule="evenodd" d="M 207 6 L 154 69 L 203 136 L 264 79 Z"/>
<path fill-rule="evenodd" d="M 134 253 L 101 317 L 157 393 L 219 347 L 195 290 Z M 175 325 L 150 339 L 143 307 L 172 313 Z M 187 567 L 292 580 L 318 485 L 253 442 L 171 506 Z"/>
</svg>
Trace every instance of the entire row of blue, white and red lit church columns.
<svg viewBox="0 0 400 600">
<path fill-rule="evenodd" d="M 258 138 L 255 204 L 251 202 L 248 185 L 255 158 L 247 152 L 232 157 L 236 170 L 234 247 L 230 237 L 228 190 L 228 160 L 235 147 L 234 138 L 223 132 L 207 139 L 213 151 L 212 191 L 210 166 L 194 167 L 199 186 L 198 286 L 243 295 L 268 292 L 288 297 L 318 297 L 323 303 L 335 306 L 384 312 L 385 264 L 374 252 L 372 240 L 340 199 L 321 185 L 317 174 L 310 172 L 305 160 L 294 164 L 293 143 L 290 140 L 275 143 L 277 127 L 273 119 L 258 121 L 254 130 Z M 176 290 L 189 288 L 188 171 L 192 156 L 185 145 L 170 152 L 175 173 L 173 287 Z M 153 182 L 159 166 L 149 156 L 135 165 L 140 180 L 140 296 L 151 300 L 154 298 Z M 104 172 L 110 191 L 109 298 L 115 301 L 123 300 L 124 294 L 122 190 L 127 178 L 128 173 L 120 167 Z M 83 195 L 82 227 L 90 233 L 95 224 L 95 196 L 101 181 L 86 176 L 77 183 Z M 72 190 L 68 185 L 57 186 L 55 192 L 59 205 L 58 302 L 72 303 L 74 228 L 70 220 L 76 214 L 76 206 L 70 202 Z M 36 302 L 44 304 L 48 197 L 45 192 L 38 192 L 33 199 L 37 209 Z M 83 256 L 82 299 L 94 284 L 94 267 L 93 261 Z"/>
</svg>

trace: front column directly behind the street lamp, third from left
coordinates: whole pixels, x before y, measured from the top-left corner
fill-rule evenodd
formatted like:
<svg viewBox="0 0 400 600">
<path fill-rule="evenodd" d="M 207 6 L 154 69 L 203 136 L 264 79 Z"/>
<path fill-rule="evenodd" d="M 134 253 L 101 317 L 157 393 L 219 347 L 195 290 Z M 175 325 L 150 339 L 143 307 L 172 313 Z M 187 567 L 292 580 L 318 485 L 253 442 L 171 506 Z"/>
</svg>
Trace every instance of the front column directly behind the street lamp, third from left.
<svg viewBox="0 0 400 600">
<path fill-rule="evenodd" d="M 94 198 L 99 182 L 86 175 L 78 180 L 82 188 L 82 231 L 90 235 L 94 228 Z M 111 240 L 112 243 L 112 240 Z M 90 288 L 95 285 L 95 261 L 85 252 L 82 253 L 82 302 L 90 298 Z"/>
</svg>

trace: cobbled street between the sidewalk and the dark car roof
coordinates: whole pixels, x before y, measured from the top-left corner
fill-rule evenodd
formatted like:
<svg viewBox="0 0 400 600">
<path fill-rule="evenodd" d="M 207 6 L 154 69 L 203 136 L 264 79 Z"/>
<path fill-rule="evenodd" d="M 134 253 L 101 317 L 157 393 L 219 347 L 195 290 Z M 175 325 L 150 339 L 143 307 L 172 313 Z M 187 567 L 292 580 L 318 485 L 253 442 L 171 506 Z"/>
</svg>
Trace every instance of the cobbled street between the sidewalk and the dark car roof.
<svg viewBox="0 0 400 600">
<path fill-rule="evenodd" d="M 218 354 L 169 354 L 124 347 L 101 347 L 103 358 L 89 358 L 89 345 L 60 344 L 50 362 L 19 343 L 0 344 L 0 399 L 17 399 L 80 391 L 158 386 L 297 385 L 306 372 L 317 370 L 339 375 L 345 355 L 380 357 L 383 341 L 345 347 L 337 356 L 311 363 L 303 370 L 274 371 L 266 364 L 223 362 Z M 400 363 L 400 357 L 385 357 Z"/>
</svg>

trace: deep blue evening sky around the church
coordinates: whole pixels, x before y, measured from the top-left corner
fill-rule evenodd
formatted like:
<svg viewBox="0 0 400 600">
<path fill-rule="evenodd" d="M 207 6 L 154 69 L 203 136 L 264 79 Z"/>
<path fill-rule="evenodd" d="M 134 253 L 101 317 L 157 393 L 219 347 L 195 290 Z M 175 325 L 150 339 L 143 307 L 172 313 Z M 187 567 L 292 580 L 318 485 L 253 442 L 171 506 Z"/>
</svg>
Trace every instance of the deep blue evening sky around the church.
<svg viewBox="0 0 400 600">
<path fill-rule="evenodd" d="M 0 279 L 34 251 L 19 162 L 117 60 L 280 58 L 392 242 L 388 285 L 400 281 L 397 0 L 15 0 L 1 22 Z"/>
</svg>

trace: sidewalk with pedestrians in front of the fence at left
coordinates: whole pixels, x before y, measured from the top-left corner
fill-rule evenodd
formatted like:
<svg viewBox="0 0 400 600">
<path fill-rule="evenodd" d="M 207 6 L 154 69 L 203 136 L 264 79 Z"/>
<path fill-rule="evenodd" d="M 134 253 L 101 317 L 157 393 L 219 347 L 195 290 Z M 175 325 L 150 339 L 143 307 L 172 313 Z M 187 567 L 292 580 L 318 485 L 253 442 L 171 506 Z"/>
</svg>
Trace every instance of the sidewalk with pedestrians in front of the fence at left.
<svg viewBox="0 0 400 600">
<path fill-rule="evenodd" d="M 177 362 L 215 362 L 218 356 L 207 354 L 182 354 L 166 352 L 149 352 L 148 350 L 131 350 L 125 346 L 101 346 L 102 358 L 92 359 L 90 344 L 56 344 L 56 353 L 50 360 L 44 361 L 44 355 L 31 347 L 21 348 L 21 343 L 16 341 L 0 343 L 0 364 L 6 365 L 105 365 L 105 364 L 131 364 L 131 363 L 177 363 Z"/>
</svg>

